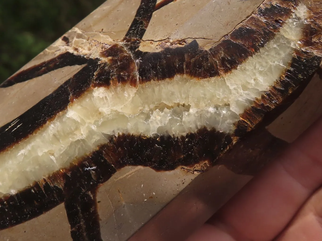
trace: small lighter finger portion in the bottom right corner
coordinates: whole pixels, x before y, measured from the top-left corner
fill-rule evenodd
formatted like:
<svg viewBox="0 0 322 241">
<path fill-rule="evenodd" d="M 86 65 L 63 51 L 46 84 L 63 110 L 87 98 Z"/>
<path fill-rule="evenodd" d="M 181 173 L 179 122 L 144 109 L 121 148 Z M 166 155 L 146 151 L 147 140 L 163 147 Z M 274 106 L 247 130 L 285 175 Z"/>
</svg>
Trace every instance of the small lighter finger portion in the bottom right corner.
<svg viewBox="0 0 322 241">
<path fill-rule="evenodd" d="M 322 188 L 303 206 L 276 241 L 322 240 Z"/>
</svg>

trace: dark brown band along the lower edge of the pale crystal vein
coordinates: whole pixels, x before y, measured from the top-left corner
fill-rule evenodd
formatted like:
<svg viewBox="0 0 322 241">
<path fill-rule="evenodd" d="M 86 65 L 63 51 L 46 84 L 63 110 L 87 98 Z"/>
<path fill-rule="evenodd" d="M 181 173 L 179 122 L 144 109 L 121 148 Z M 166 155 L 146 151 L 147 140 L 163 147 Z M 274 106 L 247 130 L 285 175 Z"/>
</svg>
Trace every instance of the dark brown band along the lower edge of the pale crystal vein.
<svg viewBox="0 0 322 241">
<path fill-rule="evenodd" d="M 50 210 L 64 201 L 66 196 L 73 195 L 75 190 L 82 190 L 82 192 L 95 190 L 118 169 L 128 165 L 148 166 L 157 171 L 167 171 L 178 166 L 192 167 L 207 161 L 210 165 L 226 165 L 236 173 L 240 173 L 241 170 L 243 174 L 256 173 L 250 170 L 250 173 L 245 173 L 242 163 L 237 165 L 236 162 L 226 161 L 231 158 L 230 152 L 227 157 L 223 153 L 232 147 L 235 137 L 240 138 L 241 143 L 244 139 L 250 139 L 249 135 L 254 135 L 254 132 L 255 137 L 260 137 L 256 133 L 263 131 L 270 121 L 292 103 L 292 100 L 301 92 L 297 88 L 303 89 L 308 84 L 320 61 L 320 57 L 304 53 L 300 56 L 295 55 L 290 67 L 277 84 L 242 115 L 244 119 L 237 123 L 234 136 L 206 128 L 181 137 L 158 135 L 147 137 L 131 134 L 114 136 L 109 143 L 101 146 L 90 156 L 77 161 L 77 164 L 73 164 L 70 168 L 57 171 L 22 192 L 0 199 L 0 228 L 19 224 Z M 307 68 L 308 63 L 310 68 Z M 276 106 L 279 108 L 272 112 L 271 110 Z M 250 134 L 246 133 L 252 129 L 249 123 L 254 126 L 261 120 L 264 120 L 261 122 L 261 128 L 252 130 Z M 272 137 L 268 135 L 267 138 Z M 261 138 L 260 142 L 256 139 L 256 142 L 265 143 L 265 138 Z M 279 142 L 276 143 L 276 139 L 273 138 L 272 143 Z M 232 148 L 232 151 L 235 152 L 235 149 Z M 245 155 L 242 157 L 244 158 Z M 95 167 L 95 169 L 85 170 L 89 167 Z"/>
</svg>

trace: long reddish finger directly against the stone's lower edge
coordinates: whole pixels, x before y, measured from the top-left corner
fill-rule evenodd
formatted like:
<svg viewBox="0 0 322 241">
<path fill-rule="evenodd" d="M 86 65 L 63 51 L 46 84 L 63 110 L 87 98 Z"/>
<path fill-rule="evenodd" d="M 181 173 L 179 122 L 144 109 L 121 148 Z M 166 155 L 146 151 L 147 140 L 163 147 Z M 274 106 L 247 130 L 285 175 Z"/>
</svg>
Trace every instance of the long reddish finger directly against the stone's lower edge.
<svg viewBox="0 0 322 241">
<path fill-rule="evenodd" d="M 238 241 L 265 241 L 278 235 L 322 183 L 321 145 L 322 120 L 208 221 L 213 234 Z M 189 241 L 201 240 L 194 239 L 198 234 L 200 230 Z"/>
</svg>

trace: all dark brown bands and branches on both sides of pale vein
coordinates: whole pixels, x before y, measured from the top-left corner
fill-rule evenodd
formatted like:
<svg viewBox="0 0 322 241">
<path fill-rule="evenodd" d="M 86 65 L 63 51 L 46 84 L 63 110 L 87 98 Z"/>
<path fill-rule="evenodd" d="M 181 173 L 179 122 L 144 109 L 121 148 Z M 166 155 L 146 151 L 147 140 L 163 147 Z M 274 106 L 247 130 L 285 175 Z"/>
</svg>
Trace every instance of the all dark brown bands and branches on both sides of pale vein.
<svg viewBox="0 0 322 241">
<path fill-rule="evenodd" d="M 19 116 L 13 126 L 17 127 L 14 132 L 6 131 L 12 122 L 1 127 L 0 150 L 4 151 L 35 133 L 73 100 L 95 86 L 109 87 L 120 83 L 137 85 L 147 81 L 162 81 L 178 74 L 200 79 L 223 76 L 272 40 L 296 4 L 296 0 L 265 1 L 238 28 L 209 50 L 199 47 L 194 40 L 183 47 L 169 47 L 152 53 L 137 49 L 156 10 L 156 0 L 142 0 L 124 37 L 125 44 L 117 43 L 101 51 L 102 57 L 112 57 L 110 62 L 101 63 L 99 59 L 64 53 L 12 76 L 0 86 L 5 88 L 65 66 L 86 64 L 52 94 Z M 310 7 L 317 9 L 320 5 L 312 4 Z M 316 12 L 311 16 L 317 16 Z M 181 137 L 126 133 L 113 136 L 98 150 L 75 160 L 70 168 L 58 170 L 31 187 L 0 198 L 0 229 L 37 217 L 65 202 L 73 240 L 101 240 L 95 191 L 99 184 L 128 165 L 167 171 L 206 161 L 210 165 L 226 165 L 236 173 L 256 173 L 262 157 L 258 151 L 240 154 L 244 160 L 252 155 L 248 161 L 241 163 L 236 163 L 236 155 L 245 150 L 244 145 L 248 140 L 257 150 L 261 150 L 263 145 L 268 147 L 268 152 L 265 152 L 267 156 L 277 148 L 279 142 L 265 132 L 265 126 L 297 98 L 321 61 L 317 54 L 321 47 L 314 38 L 321 30 L 321 21 L 314 17 L 310 18 L 311 27 L 306 28 L 302 40 L 307 51 L 294 53 L 289 67 L 274 86 L 241 114 L 232 135 L 202 128 Z M 262 145 L 256 147 L 259 137 Z M 236 148 L 231 148 L 235 143 Z M 246 145 L 246 150 L 251 146 Z M 254 165 L 248 169 L 249 173 L 245 173 L 244 166 L 247 165 Z"/>
</svg>

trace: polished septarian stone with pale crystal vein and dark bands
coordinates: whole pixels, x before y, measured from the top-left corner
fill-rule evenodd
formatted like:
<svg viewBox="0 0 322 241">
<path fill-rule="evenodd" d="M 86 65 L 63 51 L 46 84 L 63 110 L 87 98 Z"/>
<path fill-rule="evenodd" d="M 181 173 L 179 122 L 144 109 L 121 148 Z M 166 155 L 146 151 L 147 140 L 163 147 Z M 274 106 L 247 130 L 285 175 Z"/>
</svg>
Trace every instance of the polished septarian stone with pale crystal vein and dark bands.
<svg viewBox="0 0 322 241">
<path fill-rule="evenodd" d="M 0 85 L 1 237 L 188 235 L 322 111 L 321 9 L 107 1 Z"/>
</svg>

